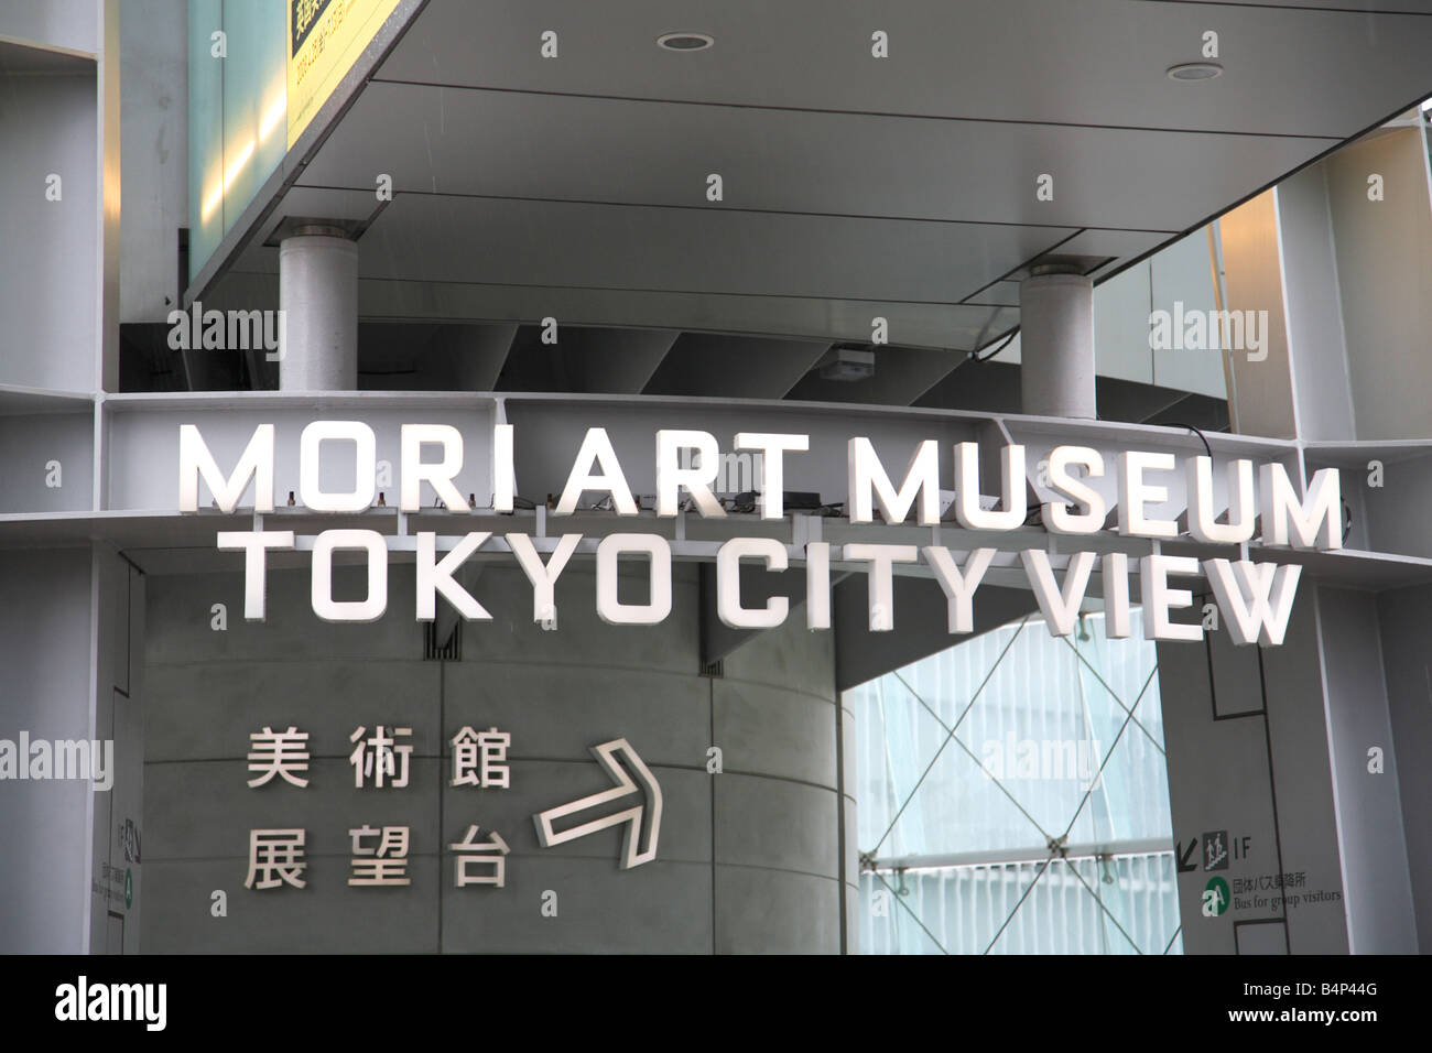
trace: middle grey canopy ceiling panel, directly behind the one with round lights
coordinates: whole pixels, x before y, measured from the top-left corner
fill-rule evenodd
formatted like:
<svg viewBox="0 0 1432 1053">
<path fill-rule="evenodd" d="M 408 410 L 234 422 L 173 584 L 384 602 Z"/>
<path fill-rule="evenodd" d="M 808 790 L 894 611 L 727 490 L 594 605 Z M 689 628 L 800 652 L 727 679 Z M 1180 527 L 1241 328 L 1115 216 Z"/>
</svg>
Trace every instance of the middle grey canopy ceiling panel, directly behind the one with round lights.
<svg viewBox="0 0 1432 1053">
<path fill-rule="evenodd" d="M 374 83 L 301 182 L 1179 232 L 1335 145 Z"/>
</svg>

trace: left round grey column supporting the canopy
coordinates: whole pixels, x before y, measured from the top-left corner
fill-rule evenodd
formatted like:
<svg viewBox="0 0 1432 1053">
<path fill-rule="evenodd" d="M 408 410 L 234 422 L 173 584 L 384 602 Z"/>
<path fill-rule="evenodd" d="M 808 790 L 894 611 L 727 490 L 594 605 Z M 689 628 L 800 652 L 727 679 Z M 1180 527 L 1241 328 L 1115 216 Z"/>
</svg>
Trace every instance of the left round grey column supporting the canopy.
<svg viewBox="0 0 1432 1053">
<path fill-rule="evenodd" d="M 358 245 L 332 226 L 305 226 L 278 248 L 284 312 L 281 391 L 358 388 Z"/>
</svg>

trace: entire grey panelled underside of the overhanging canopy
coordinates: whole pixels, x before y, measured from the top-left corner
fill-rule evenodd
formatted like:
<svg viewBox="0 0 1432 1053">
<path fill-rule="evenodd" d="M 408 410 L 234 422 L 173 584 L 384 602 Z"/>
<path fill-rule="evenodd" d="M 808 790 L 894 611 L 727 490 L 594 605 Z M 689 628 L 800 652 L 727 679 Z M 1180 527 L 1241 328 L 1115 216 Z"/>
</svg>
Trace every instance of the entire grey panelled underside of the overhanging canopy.
<svg viewBox="0 0 1432 1053">
<path fill-rule="evenodd" d="M 1223 74 L 1170 80 L 1210 30 Z M 1432 0 L 430 0 L 203 281 L 371 221 L 364 318 L 987 347 L 1018 268 L 1113 274 L 1432 95 L 1429 56 Z"/>
</svg>

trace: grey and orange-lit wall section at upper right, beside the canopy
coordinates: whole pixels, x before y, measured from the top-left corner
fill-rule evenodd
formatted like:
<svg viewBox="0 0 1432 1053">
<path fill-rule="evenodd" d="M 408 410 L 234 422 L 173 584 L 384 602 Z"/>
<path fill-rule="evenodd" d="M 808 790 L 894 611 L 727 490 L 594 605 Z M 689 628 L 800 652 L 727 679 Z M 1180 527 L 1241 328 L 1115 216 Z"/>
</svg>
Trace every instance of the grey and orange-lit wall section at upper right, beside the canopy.
<svg viewBox="0 0 1432 1053">
<path fill-rule="evenodd" d="M 1236 430 L 1307 440 L 1428 434 L 1425 129 L 1379 129 L 1220 226 L 1227 307 L 1267 311 L 1270 325 L 1266 361 L 1232 358 Z"/>
</svg>

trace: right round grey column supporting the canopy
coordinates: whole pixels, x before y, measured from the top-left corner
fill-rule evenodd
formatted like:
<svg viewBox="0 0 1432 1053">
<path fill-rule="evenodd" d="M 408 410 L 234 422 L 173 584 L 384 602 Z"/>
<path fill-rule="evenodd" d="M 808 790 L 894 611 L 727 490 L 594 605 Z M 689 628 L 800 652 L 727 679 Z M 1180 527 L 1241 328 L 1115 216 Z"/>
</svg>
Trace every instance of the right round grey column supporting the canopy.
<svg viewBox="0 0 1432 1053">
<path fill-rule="evenodd" d="M 1095 420 L 1094 282 L 1060 264 L 1020 282 L 1024 413 Z"/>
</svg>

